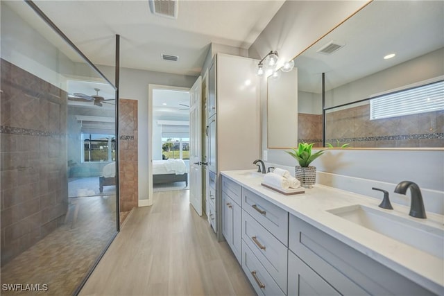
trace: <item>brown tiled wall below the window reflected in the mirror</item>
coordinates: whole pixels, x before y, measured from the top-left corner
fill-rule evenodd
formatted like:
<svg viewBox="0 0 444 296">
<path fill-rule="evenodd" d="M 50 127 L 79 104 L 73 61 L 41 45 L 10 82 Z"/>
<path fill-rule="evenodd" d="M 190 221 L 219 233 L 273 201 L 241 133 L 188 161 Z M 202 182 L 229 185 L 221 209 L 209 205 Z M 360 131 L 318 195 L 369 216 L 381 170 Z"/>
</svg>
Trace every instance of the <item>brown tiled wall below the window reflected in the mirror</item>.
<svg viewBox="0 0 444 296">
<path fill-rule="evenodd" d="M 370 121 L 370 105 L 329 112 L 325 142 L 353 148 L 444 147 L 444 111 Z"/>
</svg>

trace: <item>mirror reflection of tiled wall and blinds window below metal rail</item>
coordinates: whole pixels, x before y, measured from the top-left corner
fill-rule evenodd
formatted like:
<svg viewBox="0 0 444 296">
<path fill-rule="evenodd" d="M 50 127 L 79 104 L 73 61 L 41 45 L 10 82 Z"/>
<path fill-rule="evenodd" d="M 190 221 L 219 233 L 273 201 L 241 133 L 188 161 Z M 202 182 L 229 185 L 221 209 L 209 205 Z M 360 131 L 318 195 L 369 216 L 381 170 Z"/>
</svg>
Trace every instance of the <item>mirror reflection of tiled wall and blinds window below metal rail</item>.
<svg viewBox="0 0 444 296">
<path fill-rule="evenodd" d="M 325 141 L 355 148 L 443 147 L 444 81 L 327 110 Z"/>
</svg>

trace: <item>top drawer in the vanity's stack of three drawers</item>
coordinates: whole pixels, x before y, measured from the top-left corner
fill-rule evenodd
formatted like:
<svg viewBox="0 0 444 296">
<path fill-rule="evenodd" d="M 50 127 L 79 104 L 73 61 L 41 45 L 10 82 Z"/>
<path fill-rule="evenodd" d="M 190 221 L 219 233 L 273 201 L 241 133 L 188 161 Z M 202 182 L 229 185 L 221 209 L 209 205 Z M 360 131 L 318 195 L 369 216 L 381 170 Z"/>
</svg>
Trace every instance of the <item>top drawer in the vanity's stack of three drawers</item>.
<svg viewBox="0 0 444 296">
<path fill-rule="evenodd" d="M 284 245 L 288 245 L 288 217 L 284 209 L 242 188 L 242 209 L 255 218 Z"/>
</svg>

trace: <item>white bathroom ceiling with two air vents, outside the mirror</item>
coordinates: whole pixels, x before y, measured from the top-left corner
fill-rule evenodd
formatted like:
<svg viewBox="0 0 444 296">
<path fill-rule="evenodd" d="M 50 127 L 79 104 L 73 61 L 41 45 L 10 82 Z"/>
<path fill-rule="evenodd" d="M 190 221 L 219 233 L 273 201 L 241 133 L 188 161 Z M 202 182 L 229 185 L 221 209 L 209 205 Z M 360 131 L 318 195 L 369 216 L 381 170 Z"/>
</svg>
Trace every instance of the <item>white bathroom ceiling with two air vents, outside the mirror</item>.
<svg viewBox="0 0 444 296">
<path fill-rule="evenodd" d="M 211 42 L 248 49 L 284 1 L 179 0 L 177 19 L 153 15 L 148 0 L 35 3 L 94 64 L 114 65 L 119 34 L 121 67 L 197 76 Z"/>
</svg>

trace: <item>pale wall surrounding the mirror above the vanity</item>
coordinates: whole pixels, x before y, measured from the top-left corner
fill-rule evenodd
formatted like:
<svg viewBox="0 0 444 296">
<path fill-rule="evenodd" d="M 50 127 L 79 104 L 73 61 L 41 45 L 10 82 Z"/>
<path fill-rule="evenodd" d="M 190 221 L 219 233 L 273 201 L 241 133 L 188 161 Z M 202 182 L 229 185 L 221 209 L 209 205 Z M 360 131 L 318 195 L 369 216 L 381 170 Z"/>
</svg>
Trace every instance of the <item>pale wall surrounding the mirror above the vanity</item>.
<svg viewBox="0 0 444 296">
<path fill-rule="evenodd" d="M 250 56 L 264 56 L 276 49 L 281 57 L 294 57 L 361 5 L 363 2 L 359 1 L 287 1 L 250 47 Z M 443 69 L 442 63 L 436 64 L 436 67 Z M 262 150 L 267 150 L 266 81 L 262 82 Z M 282 137 L 285 135 L 282 134 Z M 296 166 L 296 160 L 284 151 L 268 150 L 267 164 Z M 331 173 L 328 185 L 336 186 L 334 180 L 345 180 L 341 183 L 341 189 L 345 190 L 351 190 L 352 180 L 356 179 L 365 180 L 359 184 L 366 187 L 373 183 L 393 187 L 402 180 L 417 182 L 426 189 L 427 195 L 438 200 L 426 204 L 426 208 L 436 205 L 433 210 L 443 212 L 444 150 L 329 150 L 313 164 L 319 172 Z M 366 187 L 361 193 L 368 192 Z"/>
</svg>

